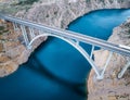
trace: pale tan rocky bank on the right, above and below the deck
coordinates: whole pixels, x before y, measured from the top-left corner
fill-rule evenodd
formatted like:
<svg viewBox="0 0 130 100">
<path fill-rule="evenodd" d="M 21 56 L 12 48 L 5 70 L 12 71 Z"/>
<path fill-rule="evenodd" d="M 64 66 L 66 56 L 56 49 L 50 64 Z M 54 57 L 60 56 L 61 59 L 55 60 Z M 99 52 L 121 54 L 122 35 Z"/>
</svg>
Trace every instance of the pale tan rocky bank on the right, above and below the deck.
<svg viewBox="0 0 130 100">
<path fill-rule="evenodd" d="M 116 27 L 108 41 L 130 46 L 130 20 Z M 104 50 L 94 52 L 98 66 L 102 67 L 105 64 L 108 53 L 108 51 Z M 101 82 L 93 79 L 94 75 L 93 71 L 91 71 L 88 80 L 88 100 L 130 100 L 130 68 L 127 70 L 122 78 L 117 78 L 118 73 L 127 62 L 130 62 L 130 58 L 114 53 L 107 66 L 104 79 Z"/>
</svg>

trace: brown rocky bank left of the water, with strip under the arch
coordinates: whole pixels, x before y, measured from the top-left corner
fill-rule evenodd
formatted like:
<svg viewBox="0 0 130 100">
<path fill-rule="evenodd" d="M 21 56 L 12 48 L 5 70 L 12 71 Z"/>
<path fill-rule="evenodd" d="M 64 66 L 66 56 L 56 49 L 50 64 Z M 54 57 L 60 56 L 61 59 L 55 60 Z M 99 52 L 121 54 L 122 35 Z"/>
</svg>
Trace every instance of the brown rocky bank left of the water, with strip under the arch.
<svg viewBox="0 0 130 100">
<path fill-rule="evenodd" d="M 32 50 L 46 38 L 38 40 Z M 32 50 L 27 50 L 20 30 L 14 32 L 11 23 L 0 21 L 0 77 L 17 70 L 27 61 Z"/>
</svg>

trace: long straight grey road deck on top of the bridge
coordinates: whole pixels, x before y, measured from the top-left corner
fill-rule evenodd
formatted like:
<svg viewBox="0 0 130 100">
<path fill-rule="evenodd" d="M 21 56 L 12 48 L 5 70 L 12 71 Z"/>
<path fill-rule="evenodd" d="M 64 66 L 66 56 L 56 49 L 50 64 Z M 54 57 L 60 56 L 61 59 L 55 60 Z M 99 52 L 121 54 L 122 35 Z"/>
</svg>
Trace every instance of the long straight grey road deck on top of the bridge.
<svg viewBox="0 0 130 100">
<path fill-rule="evenodd" d="M 62 36 L 65 38 L 74 38 L 75 40 L 81 41 L 81 42 L 86 42 L 86 43 L 90 43 L 93 46 L 98 46 L 101 47 L 102 49 L 106 49 L 116 53 L 120 53 L 127 57 L 130 57 L 130 48 L 127 46 L 122 46 L 122 45 L 115 45 L 102 39 L 98 39 L 98 38 L 93 38 L 87 35 L 82 35 L 79 33 L 74 33 L 70 30 L 64 30 L 64 29 L 60 29 L 56 27 L 50 27 L 47 25 L 42 25 L 42 24 L 37 24 L 30 21 L 26 21 L 26 20 L 21 20 L 17 17 L 13 17 L 13 16 L 9 16 L 9 15 L 4 15 L 4 14 L 0 14 L 0 18 L 5 20 L 5 21 L 11 21 L 13 23 L 16 24 L 21 24 L 21 25 L 25 25 L 25 26 L 29 26 L 36 29 L 40 29 L 43 30 L 46 33 L 51 33 L 57 36 Z"/>
</svg>

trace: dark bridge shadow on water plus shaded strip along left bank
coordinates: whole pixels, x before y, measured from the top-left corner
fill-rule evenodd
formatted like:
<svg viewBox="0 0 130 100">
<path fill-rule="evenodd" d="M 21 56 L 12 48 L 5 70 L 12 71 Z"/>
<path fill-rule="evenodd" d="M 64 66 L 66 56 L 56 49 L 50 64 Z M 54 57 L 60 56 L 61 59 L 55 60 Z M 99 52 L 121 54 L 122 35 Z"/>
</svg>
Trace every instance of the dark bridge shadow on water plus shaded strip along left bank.
<svg viewBox="0 0 130 100">
<path fill-rule="evenodd" d="M 48 41 L 44 45 L 40 45 L 36 51 L 40 51 L 40 49 L 44 48 L 46 45 L 48 45 L 50 41 L 52 41 L 54 38 L 49 38 Z M 76 92 L 78 96 L 82 98 L 87 98 L 87 89 L 84 87 L 87 86 L 87 83 L 72 83 L 69 80 L 66 80 L 64 78 L 58 77 L 54 73 L 50 72 L 44 65 L 38 60 L 36 57 L 36 52 L 31 54 L 28 62 L 26 63 L 27 66 L 30 67 L 31 71 L 35 73 L 40 74 L 41 76 L 44 76 L 55 83 L 58 83 L 63 85 L 64 87 L 72 89 L 74 92 Z"/>
</svg>

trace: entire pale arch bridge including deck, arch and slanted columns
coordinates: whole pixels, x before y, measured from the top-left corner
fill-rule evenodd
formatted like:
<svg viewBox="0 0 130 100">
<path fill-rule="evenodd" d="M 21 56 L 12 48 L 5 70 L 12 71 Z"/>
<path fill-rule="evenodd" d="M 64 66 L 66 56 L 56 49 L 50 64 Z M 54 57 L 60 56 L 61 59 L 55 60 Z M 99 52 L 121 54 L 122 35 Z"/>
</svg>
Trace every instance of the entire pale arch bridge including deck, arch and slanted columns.
<svg viewBox="0 0 130 100">
<path fill-rule="evenodd" d="M 126 57 L 130 57 L 130 47 L 128 47 L 128 46 L 115 45 L 115 43 L 112 43 L 112 42 L 108 42 L 108 41 L 105 41 L 105 40 L 102 40 L 102 39 L 99 39 L 99 38 L 90 37 L 90 36 L 87 36 L 87 35 L 82 35 L 82 34 L 79 34 L 79 33 L 65 30 L 65 29 L 60 29 L 60 28 L 56 28 L 56 27 L 50 27 L 50 26 L 42 25 L 42 24 L 37 24 L 37 23 L 34 23 L 34 22 L 30 22 L 30 21 L 21 20 L 21 18 L 17 18 L 17 17 L 4 15 L 4 14 L 1 14 L 1 13 L 0 13 L 0 18 L 12 22 L 13 25 L 14 25 L 14 28 L 17 25 L 20 25 L 20 28 L 22 30 L 22 34 L 23 34 L 23 37 L 24 37 L 24 40 L 25 40 L 25 45 L 28 49 L 31 49 L 32 41 L 36 40 L 37 38 L 41 37 L 41 36 L 54 36 L 54 37 L 57 37 L 57 38 L 61 38 L 61 39 L 67 41 L 68 43 L 70 43 L 74 48 L 76 48 L 86 58 L 86 60 L 90 63 L 90 65 L 95 71 L 95 74 L 96 74 L 99 79 L 103 79 L 105 70 L 108 66 L 108 63 L 110 61 L 113 52 L 123 54 Z M 30 30 L 29 34 L 31 36 L 31 40 L 29 40 L 29 38 L 28 38 L 28 33 L 26 32 L 26 27 L 28 27 L 29 30 Z M 43 32 L 43 33 L 35 36 L 34 29 L 38 29 L 39 32 Z M 84 42 L 84 43 L 92 45 L 92 50 L 91 50 L 90 55 L 79 45 L 79 42 Z M 100 47 L 102 49 L 110 51 L 110 53 L 109 53 L 109 55 L 106 60 L 106 63 L 104 65 L 104 68 L 102 68 L 102 70 L 99 68 L 95 65 L 94 61 L 92 60 L 92 54 L 93 54 L 94 47 Z M 122 68 L 122 71 L 118 74 L 119 78 L 123 75 L 123 73 L 129 67 L 129 65 L 130 65 L 130 63 L 128 62 L 127 65 Z"/>
</svg>

